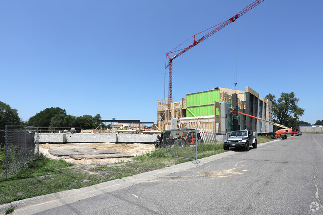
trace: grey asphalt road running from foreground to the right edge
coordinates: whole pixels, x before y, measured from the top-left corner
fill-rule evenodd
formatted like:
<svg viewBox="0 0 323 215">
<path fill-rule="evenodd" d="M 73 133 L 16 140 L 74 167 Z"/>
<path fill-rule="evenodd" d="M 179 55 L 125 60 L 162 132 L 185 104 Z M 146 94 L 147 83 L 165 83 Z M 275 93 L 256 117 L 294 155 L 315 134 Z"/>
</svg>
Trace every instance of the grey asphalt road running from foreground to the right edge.
<svg viewBox="0 0 323 215">
<path fill-rule="evenodd" d="M 36 215 L 323 215 L 323 135 L 251 148 Z"/>
</svg>

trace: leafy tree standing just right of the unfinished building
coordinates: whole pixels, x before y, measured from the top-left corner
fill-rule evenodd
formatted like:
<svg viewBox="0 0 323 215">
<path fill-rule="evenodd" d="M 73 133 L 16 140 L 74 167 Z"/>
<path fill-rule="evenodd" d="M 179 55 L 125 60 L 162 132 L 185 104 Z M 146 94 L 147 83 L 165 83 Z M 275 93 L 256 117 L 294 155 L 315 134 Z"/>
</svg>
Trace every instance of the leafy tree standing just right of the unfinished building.
<svg viewBox="0 0 323 215">
<path fill-rule="evenodd" d="M 299 99 L 295 98 L 294 92 L 282 92 L 277 101 L 275 100 L 275 96 L 270 93 L 266 98 L 269 100 L 272 99 L 272 112 L 275 122 L 287 127 L 295 127 L 299 117 L 303 115 L 304 109 L 297 106 Z"/>
</svg>

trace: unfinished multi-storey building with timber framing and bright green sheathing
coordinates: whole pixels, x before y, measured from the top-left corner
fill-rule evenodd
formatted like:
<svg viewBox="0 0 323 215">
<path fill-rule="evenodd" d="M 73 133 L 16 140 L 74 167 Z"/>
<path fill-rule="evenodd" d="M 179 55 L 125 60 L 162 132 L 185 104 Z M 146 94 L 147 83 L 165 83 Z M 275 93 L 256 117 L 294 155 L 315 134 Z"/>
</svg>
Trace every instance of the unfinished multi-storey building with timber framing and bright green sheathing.
<svg viewBox="0 0 323 215">
<path fill-rule="evenodd" d="M 178 102 L 161 99 L 157 102 L 158 130 L 176 128 L 198 128 L 227 133 L 233 130 L 253 130 L 258 133 L 273 132 L 273 126 L 239 113 L 230 113 L 231 108 L 239 112 L 272 121 L 272 103 L 245 87 L 245 91 L 216 87 L 190 93 Z"/>
</svg>

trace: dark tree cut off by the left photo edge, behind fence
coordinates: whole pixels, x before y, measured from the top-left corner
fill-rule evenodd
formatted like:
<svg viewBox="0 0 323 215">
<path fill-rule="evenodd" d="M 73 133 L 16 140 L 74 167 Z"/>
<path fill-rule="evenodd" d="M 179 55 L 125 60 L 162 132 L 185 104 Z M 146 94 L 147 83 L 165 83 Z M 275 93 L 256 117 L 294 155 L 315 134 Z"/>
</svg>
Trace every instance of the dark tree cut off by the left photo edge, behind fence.
<svg viewBox="0 0 323 215">
<path fill-rule="evenodd" d="M 5 125 L 20 125 L 20 121 L 17 109 L 0 101 L 0 129 L 4 129 Z"/>
</svg>

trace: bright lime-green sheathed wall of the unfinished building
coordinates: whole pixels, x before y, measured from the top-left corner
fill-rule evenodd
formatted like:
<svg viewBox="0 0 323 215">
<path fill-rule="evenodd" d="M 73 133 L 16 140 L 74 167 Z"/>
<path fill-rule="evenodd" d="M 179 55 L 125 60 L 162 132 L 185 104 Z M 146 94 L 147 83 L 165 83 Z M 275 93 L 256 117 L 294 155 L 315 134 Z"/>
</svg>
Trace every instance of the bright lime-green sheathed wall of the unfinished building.
<svg viewBox="0 0 323 215">
<path fill-rule="evenodd" d="M 220 102 L 219 89 L 213 89 L 186 95 L 186 107 L 196 117 L 214 115 L 213 108 L 215 101 Z M 219 115 L 219 109 L 216 110 L 216 114 Z M 193 115 L 188 110 L 186 110 L 186 117 L 193 117 Z"/>
</svg>

